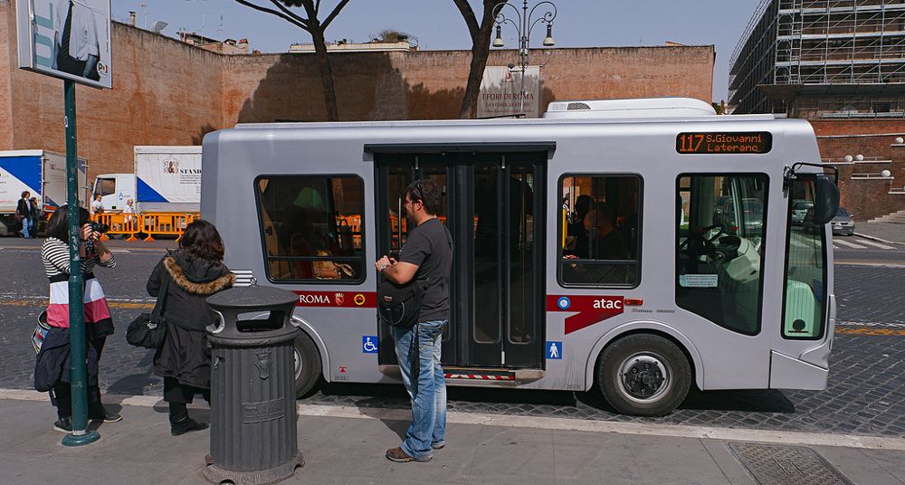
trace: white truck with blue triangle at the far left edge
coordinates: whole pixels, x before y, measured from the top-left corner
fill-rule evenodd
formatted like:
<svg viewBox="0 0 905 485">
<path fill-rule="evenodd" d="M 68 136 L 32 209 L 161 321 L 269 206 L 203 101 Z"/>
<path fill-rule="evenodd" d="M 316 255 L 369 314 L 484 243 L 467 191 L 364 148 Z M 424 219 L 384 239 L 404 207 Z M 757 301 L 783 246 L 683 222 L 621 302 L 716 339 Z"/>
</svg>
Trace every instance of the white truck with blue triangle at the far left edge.
<svg viewBox="0 0 905 485">
<path fill-rule="evenodd" d="M 81 205 L 87 205 L 85 166 L 85 159 L 79 158 Z M 18 231 L 15 207 L 26 190 L 45 212 L 66 204 L 66 156 L 46 150 L 0 151 L 0 235 Z"/>
</svg>

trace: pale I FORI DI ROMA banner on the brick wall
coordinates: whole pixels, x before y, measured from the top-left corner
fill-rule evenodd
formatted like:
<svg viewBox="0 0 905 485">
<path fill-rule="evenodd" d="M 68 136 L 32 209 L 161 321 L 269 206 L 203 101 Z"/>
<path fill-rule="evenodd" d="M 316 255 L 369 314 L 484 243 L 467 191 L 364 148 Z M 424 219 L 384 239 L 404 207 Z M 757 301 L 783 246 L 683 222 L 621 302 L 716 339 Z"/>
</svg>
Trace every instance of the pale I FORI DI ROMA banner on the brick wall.
<svg viewBox="0 0 905 485">
<path fill-rule="evenodd" d="M 521 102 L 521 70 L 506 66 L 488 66 L 481 78 L 478 94 L 478 118 L 525 113 L 540 116 L 540 66 L 525 67 L 525 104 Z"/>
</svg>

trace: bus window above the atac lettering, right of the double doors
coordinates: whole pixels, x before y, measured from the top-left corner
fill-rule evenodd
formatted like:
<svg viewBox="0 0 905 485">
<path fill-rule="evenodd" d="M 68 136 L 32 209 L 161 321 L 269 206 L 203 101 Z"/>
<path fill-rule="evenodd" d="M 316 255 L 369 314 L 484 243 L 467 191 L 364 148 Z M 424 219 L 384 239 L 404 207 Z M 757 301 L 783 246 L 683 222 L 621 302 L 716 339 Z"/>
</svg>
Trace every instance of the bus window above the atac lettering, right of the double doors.
<svg viewBox="0 0 905 485">
<path fill-rule="evenodd" d="M 560 179 L 560 284 L 638 285 L 640 188 L 638 176 Z"/>
</svg>

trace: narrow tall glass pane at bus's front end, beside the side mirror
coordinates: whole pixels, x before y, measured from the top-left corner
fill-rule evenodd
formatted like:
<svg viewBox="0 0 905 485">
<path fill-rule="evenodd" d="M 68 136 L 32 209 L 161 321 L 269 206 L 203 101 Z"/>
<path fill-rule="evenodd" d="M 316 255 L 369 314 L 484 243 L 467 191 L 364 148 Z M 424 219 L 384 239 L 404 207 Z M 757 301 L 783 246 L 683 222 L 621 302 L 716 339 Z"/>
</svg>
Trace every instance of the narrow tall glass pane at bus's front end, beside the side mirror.
<svg viewBox="0 0 905 485">
<path fill-rule="evenodd" d="M 814 179 L 796 179 L 789 190 L 783 337 L 824 336 L 826 251 L 824 225 L 813 223 Z"/>
</svg>

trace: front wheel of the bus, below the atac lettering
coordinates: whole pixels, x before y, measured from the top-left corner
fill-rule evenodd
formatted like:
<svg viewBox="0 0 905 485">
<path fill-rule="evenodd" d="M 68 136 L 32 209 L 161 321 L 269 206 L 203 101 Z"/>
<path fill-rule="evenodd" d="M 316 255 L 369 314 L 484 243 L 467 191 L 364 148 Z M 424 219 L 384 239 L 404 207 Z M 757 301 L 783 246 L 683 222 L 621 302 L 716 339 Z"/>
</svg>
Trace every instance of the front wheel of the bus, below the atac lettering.
<svg viewBox="0 0 905 485">
<path fill-rule="evenodd" d="M 652 334 L 635 334 L 606 347 L 597 367 L 606 401 L 623 414 L 662 416 L 688 395 L 691 366 L 681 349 Z"/>
</svg>

